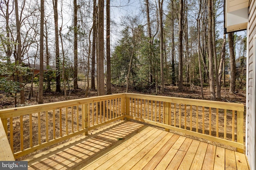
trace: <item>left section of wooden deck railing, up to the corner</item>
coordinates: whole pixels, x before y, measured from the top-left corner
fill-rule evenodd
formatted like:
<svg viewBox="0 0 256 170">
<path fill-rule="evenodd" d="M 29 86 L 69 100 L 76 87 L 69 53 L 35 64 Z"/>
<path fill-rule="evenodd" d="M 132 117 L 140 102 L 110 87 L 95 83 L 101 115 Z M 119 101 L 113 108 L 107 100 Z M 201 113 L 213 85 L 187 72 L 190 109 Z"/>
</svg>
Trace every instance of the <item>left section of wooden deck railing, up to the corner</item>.
<svg viewBox="0 0 256 170">
<path fill-rule="evenodd" d="M 18 158 L 123 119 L 124 108 L 124 94 L 116 94 L 2 109 L 0 118 Z"/>
</svg>

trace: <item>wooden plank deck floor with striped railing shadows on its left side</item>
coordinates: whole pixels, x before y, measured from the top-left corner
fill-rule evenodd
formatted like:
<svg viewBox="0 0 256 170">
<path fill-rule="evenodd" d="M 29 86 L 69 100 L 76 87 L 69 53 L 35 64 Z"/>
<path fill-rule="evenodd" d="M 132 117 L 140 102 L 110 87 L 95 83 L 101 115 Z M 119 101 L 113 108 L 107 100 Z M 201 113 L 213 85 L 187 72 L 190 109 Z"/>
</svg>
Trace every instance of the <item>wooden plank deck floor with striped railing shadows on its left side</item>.
<svg viewBox="0 0 256 170">
<path fill-rule="evenodd" d="M 249 169 L 246 156 L 132 121 L 118 121 L 28 159 L 28 169 Z"/>
</svg>

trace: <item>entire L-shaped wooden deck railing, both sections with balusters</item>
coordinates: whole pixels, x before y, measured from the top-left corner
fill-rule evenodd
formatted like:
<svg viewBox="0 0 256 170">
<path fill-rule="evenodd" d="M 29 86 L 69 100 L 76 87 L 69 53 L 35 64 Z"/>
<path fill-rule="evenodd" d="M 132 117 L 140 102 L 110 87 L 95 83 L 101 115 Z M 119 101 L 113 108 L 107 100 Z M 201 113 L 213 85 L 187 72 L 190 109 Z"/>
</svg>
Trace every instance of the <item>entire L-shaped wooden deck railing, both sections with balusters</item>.
<svg viewBox="0 0 256 170">
<path fill-rule="evenodd" d="M 14 158 L 125 117 L 244 149 L 243 104 L 123 93 L 0 110 Z"/>
</svg>

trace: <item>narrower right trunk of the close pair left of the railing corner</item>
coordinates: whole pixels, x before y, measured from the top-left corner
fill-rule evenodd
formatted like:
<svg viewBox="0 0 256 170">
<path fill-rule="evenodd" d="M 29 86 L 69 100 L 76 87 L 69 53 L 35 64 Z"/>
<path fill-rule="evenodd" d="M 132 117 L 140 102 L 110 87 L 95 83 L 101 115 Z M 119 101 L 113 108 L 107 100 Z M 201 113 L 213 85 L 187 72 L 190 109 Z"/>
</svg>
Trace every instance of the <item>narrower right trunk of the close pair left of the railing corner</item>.
<svg viewBox="0 0 256 170">
<path fill-rule="evenodd" d="M 106 94 L 111 94 L 111 68 L 110 68 L 110 0 L 106 0 Z"/>
</svg>

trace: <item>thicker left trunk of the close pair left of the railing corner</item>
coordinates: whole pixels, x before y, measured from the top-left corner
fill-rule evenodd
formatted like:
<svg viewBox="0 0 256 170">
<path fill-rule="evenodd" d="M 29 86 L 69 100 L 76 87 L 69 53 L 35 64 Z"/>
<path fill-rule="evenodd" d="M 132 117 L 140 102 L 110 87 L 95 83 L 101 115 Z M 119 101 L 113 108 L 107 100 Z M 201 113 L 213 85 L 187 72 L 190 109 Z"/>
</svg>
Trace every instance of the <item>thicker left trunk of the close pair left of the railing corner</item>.
<svg viewBox="0 0 256 170">
<path fill-rule="evenodd" d="M 98 59 L 97 59 L 97 90 L 98 96 L 104 90 L 104 0 L 98 1 Z"/>
</svg>

